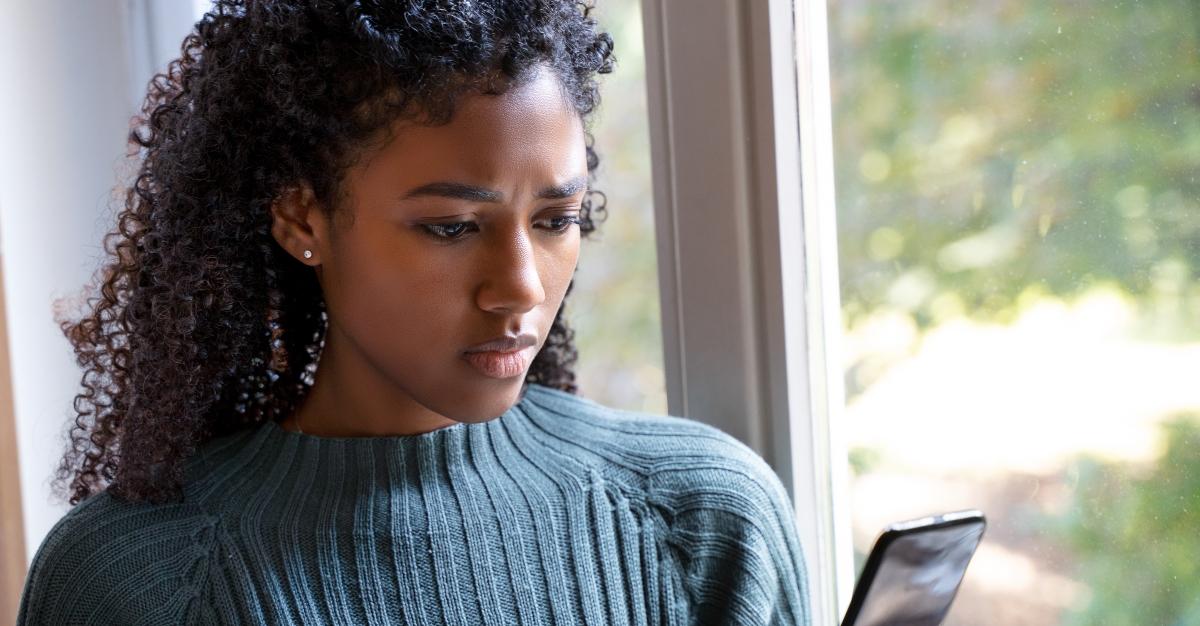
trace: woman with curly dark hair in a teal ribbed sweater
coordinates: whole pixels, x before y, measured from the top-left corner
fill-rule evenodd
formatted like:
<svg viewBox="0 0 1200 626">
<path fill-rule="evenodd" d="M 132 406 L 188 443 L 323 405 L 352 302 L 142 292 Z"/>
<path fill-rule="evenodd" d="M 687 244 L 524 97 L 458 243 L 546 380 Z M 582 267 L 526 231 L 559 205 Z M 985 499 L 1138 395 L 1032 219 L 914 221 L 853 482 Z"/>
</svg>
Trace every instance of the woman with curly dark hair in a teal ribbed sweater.
<svg viewBox="0 0 1200 626">
<path fill-rule="evenodd" d="M 222 0 L 151 84 L 20 624 L 808 624 L 778 477 L 575 395 L 612 44 L 566 0 Z"/>
</svg>

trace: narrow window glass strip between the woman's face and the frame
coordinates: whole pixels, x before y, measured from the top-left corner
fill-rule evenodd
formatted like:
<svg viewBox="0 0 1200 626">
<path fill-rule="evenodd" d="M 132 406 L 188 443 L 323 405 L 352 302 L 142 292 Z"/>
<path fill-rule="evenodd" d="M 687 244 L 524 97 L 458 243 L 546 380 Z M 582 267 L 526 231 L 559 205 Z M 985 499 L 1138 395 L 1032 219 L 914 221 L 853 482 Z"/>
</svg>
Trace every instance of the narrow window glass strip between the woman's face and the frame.
<svg viewBox="0 0 1200 626">
<path fill-rule="evenodd" d="M 595 14 L 612 35 L 617 68 L 601 77 L 593 126 L 607 219 L 583 242 L 566 305 L 580 391 L 611 407 L 665 413 L 642 10 L 637 0 L 605 0 Z"/>
</svg>

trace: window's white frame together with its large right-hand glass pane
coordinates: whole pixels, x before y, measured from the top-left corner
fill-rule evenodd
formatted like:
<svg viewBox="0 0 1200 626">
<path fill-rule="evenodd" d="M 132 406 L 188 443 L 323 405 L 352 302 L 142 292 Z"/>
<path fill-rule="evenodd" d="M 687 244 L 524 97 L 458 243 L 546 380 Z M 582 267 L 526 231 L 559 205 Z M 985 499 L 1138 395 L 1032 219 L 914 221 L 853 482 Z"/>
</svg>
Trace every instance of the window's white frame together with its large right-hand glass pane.
<svg viewBox="0 0 1200 626">
<path fill-rule="evenodd" d="M 962 507 L 950 624 L 1198 619 L 1200 10 L 644 16 L 671 409 L 791 487 L 815 622 Z"/>
</svg>

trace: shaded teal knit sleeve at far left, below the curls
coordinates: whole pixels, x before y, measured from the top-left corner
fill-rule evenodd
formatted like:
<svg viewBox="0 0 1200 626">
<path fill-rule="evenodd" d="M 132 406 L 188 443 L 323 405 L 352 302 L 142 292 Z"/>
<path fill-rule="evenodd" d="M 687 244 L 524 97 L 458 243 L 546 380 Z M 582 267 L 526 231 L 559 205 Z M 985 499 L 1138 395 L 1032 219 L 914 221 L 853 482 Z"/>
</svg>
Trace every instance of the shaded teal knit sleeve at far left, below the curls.
<svg viewBox="0 0 1200 626">
<path fill-rule="evenodd" d="M 17 625 L 187 624 L 214 525 L 184 505 L 89 498 L 34 554 Z"/>
</svg>

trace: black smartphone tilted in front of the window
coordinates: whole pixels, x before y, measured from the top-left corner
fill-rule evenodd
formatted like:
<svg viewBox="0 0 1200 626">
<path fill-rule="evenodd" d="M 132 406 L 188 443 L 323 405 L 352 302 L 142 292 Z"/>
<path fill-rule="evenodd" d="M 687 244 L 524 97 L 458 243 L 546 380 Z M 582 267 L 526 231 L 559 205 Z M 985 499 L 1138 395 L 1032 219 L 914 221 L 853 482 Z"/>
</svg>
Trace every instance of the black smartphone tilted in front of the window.
<svg viewBox="0 0 1200 626">
<path fill-rule="evenodd" d="M 979 511 L 956 511 L 886 528 L 841 626 L 940 626 L 986 526 Z"/>
</svg>

